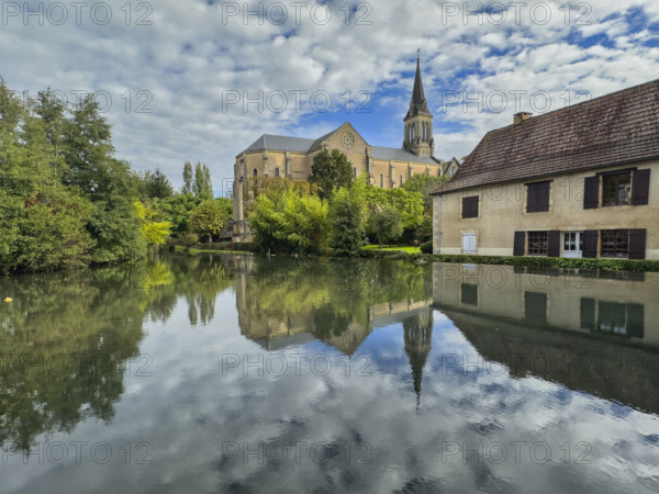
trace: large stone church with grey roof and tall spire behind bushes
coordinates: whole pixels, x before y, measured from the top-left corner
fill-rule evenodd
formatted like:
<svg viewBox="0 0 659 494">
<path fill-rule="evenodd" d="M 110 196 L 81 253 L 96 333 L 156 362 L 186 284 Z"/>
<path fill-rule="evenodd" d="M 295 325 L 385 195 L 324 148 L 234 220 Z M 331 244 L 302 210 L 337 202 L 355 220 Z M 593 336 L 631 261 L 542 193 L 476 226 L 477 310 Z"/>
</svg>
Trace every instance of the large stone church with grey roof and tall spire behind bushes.
<svg viewBox="0 0 659 494">
<path fill-rule="evenodd" d="M 282 177 L 306 180 L 314 156 L 323 149 L 340 150 L 351 164 L 355 178 L 366 176 L 371 184 L 383 189 L 400 187 L 413 175 L 442 176 L 447 166 L 434 156 L 433 115 L 423 91 L 418 57 L 410 110 L 403 123 L 402 148 L 371 146 L 349 122 L 315 139 L 261 135 L 236 156 L 234 240 L 246 242 L 250 238 L 246 217 L 250 200 L 249 179 Z"/>
</svg>

